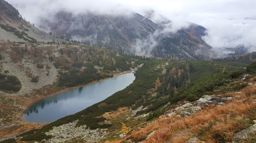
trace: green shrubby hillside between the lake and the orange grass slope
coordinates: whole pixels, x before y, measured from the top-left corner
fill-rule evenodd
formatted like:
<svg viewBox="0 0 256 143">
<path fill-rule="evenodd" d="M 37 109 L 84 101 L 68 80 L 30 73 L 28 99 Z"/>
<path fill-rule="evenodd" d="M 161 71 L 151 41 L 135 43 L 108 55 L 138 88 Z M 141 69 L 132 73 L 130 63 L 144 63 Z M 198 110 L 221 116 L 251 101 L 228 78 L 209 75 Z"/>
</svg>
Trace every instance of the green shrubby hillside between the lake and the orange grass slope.
<svg viewBox="0 0 256 143">
<path fill-rule="evenodd" d="M 222 72 L 224 67 L 228 71 L 239 69 L 239 67 L 243 68 L 244 66 L 243 64 L 238 66 L 239 64 L 237 63 L 212 63 L 210 61 L 144 61 L 143 63 L 144 66 L 136 73 L 135 81 L 126 89 L 83 111 L 57 120 L 42 127 L 40 130 L 30 132 L 30 135 L 24 136 L 22 140 L 40 141 L 48 138 L 52 142 L 68 140 L 72 142 L 82 141 L 83 139 L 101 140 L 102 138 L 95 136 L 95 132 L 101 132 L 100 136 L 104 135 L 103 140 L 107 138 L 111 140 L 117 139 L 120 134 L 119 129 L 121 129 L 120 122 L 124 122 L 126 126 L 135 129 L 137 125 L 160 116 L 164 110 L 159 111 L 158 109 L 165 104 L 170 104 L 168 102 L 172 102 L 172 98 L 177 94 L 177 91 L 182 91 L 190 82 L 202 76 Z M 199 73 L 202 73 L 202 75 L 198 76 Z M 194 77 L 194 79 L 191 77 Z M 175 81 L 173 84 L 168 84 L 169 81 L 173 80 Z M 157 84 L 158 82 L 160 84 Z M 176 101 L 173 100 L 173 102 Z M 76 128 L 75 125 L 80 126 L 79 128 L 90 127 L 84 132 L 92 132 L 94 135 L 82 139 L 79 137 L 79 128 Z M 99 127 L 101 129 L 98 129 Z M 61 136 L 67 136 L 66 133 L 69 133 L 69 131 L 62 132 L 60 128 L 72 131 L 73 136 L 63 140 Z M 56 132 L 62 132 L 62 134 L 55 136 Z M 51 134 L 53 137 L 51 137 Z"/>
</svg>

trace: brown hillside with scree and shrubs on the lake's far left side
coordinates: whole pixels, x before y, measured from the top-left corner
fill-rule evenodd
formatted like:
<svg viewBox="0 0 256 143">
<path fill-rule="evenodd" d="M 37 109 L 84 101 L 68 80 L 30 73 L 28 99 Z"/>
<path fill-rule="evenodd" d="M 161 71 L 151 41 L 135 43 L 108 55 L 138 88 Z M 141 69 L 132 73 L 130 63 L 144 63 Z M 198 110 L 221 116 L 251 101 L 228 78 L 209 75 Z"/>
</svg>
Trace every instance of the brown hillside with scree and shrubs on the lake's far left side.
<svg viewBox="0 0 256 143">
<path fill-rule="evenodd" d="M 0 138 L 42 125 L 23 121 L 22 113 L 31 103 L 129 71 L 143 60 L 75 44 L 5 42 L 0 51 Z"/>
</svg>

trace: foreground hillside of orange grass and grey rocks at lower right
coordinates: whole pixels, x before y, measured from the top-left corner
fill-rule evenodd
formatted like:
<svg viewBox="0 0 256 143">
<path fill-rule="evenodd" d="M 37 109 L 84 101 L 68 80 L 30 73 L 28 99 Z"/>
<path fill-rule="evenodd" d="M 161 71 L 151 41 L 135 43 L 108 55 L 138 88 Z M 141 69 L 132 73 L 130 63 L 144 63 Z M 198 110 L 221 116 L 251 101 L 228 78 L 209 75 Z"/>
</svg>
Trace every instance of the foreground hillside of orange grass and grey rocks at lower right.
<svg viewBox="0 0 256 143">
<path fill-rule="evenodd" d="M 255 142 L 256 67 L 255 63 L 252 65 L 248 69 L 253 70 L 246 71 L 252 75 L 238 75 L 228 84 L 205 90 L 207 95 L 198 100 L 166 104 L 160 108 L 164 113 L 158 119 L 137 126 L 123 139 L 109 142 Z M 215 78 L 209 76 L 203 80 L 213 83 Z M 203 80 L 185 90 L 191 91 Z"/>
</svg>

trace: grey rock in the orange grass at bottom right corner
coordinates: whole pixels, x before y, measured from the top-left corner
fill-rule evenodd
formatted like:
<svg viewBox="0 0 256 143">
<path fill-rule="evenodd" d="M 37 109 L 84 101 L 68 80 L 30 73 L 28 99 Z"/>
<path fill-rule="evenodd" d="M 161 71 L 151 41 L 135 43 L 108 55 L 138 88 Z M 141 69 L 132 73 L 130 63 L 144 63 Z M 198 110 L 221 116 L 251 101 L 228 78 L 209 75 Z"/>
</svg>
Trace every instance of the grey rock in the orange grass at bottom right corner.
<svg viewBox="0 0 256 143">
<path fill-rule="evenodd" d="M 249 133 L 253 133 L 256 132 L 256 120 L 253 121 L 254 125 L 252 125 L 251 127 L 244 129 L 240 132 L 237 132 L 236 134 L 234 134 L 233 136 L 233 143 L 239 143 L 242 139 L 244 139 Z"/>
</svg>

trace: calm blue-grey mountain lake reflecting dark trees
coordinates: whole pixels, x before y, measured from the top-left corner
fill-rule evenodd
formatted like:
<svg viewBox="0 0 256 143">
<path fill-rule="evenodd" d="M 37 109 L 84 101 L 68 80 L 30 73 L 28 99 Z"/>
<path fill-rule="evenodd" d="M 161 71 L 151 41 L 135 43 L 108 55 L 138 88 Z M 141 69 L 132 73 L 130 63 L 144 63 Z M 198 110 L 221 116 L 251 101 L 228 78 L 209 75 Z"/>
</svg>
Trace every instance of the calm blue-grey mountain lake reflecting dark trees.
<svg viewBox="0 0 256 143">
<path fill-rule="evenodd" d="M 125 89 L 135 79 L 133 73 L 122 74 L 110 79 L 87 85 L 79 89 L 66 91 L 32 104 L 24 113 L 26 122 L 49 123 L 72 115 L 114 93 Z"/>
</svg>

